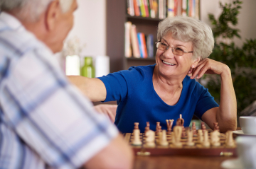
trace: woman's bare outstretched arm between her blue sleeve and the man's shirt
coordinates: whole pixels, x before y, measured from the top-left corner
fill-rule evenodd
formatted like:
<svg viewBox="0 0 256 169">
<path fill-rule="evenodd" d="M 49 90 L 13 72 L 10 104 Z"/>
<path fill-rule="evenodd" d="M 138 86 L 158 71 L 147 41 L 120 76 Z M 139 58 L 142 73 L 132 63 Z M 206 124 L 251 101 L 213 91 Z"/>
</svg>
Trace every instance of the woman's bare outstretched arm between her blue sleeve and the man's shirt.
<svg viewBox="0 0 256 169">
<path fill-rule="evenodd" d="M 99 78 L 68 76 L 68 79 L 93 102 L 104 101 L 106 99 L 107 91 L 104 83 Z"/>
</svg>

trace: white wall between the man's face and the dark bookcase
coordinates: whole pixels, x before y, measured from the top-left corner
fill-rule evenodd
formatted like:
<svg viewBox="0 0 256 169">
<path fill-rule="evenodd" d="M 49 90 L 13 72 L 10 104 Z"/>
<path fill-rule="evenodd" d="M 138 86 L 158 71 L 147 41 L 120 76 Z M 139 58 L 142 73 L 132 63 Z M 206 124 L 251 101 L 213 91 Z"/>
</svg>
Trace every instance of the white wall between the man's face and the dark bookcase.
<svg viewBox="0 0 256 169">
<path fill-rule="evenodd" d="M 80 39 L 82 57 L 106 55 L 106 0 L 77 0 L 73 29 L 67 40 L 73 37 Z"/>
</svg>

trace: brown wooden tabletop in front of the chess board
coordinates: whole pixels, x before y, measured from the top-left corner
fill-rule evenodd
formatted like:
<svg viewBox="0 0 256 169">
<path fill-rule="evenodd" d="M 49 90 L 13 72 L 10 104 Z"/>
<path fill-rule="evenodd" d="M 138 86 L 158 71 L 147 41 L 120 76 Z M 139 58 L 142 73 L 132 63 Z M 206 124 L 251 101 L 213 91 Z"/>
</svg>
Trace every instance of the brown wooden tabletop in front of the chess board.
<svg viewBox="0 0 256 169">
<path fill-rule="evenodd" d="M 240 128 L 238 128 L 240 129 Z M 233 134 L 235 138 L 236 135 Z M 135 156 L 134 169 L 218 169 L 220 164 L 236 157 L 227 156 Z"/>
</svg>

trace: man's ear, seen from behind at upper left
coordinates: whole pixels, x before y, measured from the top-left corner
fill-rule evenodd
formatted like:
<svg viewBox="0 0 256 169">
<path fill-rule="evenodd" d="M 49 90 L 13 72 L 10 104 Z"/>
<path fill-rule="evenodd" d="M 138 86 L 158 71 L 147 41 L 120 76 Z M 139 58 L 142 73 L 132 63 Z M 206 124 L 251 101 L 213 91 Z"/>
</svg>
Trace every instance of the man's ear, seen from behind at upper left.
<svg viewBox="0 0 256 169">
<path fill-rule="evenodd" d="M 58 21 L 58 17 L 60 16 L 61 8 L 60 1 L 55 0 L 52 1 L 48 8 L 46 9 L 46 29 L 53 30 L 55 28 L 55 23 Z"/>
</svg>

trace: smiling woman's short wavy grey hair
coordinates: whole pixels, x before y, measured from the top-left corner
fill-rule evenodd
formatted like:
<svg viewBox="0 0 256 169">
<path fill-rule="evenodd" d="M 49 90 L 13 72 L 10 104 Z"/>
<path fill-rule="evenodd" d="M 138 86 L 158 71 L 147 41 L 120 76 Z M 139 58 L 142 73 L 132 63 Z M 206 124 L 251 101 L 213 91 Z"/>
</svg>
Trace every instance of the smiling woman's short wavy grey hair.
<svg viewBox="0 0 256 169">
<path fill-rule="evenodd" d="M 213 52 L 214 38 L 210 26 L 196 18 L 176 16 L 166 18 L 158 26 L 157 40 L 171 33 L 175 40 L 192 42 L 193 59 L 206 59 Z"/>
</svg>

